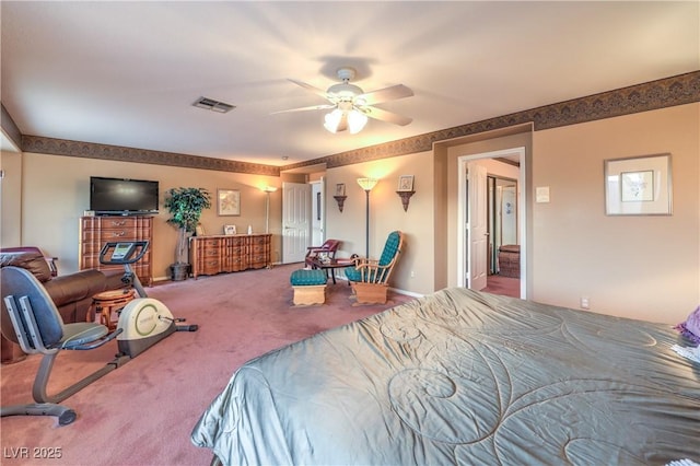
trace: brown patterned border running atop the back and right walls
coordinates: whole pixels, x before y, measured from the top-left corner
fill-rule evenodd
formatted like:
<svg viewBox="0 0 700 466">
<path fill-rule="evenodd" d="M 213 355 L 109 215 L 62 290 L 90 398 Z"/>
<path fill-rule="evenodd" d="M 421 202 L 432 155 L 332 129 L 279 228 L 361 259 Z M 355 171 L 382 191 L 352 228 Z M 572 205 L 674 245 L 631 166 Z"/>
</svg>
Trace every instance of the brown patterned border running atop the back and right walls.
<svg viewBox="0 0 700 466">
<path fill-rule="evenodd" d="M 144 149 L 22 136 L 22 150 L 56 155 L 280 176 L 285 170 L 325 163 L 327 167 L 430 151 L 438 141 L 533 123 L 535 131 L 700 102 L 700 71 L 545 105 L 524 112 L 442 129 L 383 144 L 341 152 L 285 166 L 159 152 Z"/>
</svg>

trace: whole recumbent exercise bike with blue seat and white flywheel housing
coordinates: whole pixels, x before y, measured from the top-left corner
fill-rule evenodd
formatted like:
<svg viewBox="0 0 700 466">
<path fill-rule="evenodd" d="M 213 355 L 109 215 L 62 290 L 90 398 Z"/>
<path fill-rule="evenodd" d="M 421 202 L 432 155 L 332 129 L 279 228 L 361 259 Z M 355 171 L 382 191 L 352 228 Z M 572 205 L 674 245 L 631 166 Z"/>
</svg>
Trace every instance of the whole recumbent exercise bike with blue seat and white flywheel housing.
<svg viewBox="0 0 700 466">
<path fill-rule="evenodd" d="M 2 406 L 0 416 L 56 416 L 59 426 L 69 424 L 78 415 L 73 409 L 59 405 L 62 400 L 168 335 L 178 330 L 197 330 L 197 325 L 176 325 L 184 319 L 173 318 L 163 303 L 145 294 L 139 277 L 131 270 L 131 264 L 140 260 L 148 247 L 148 242 L 107 243 L 100 253 L 102 264 L 124 266 L 122 281 L 131 284 L 139 295 L 119 312 L 117 328 L 113 333 L 108 333 L 106 326 L 92 322 L 65 324 L 50 296 L 31 271 L 11 266 L 2 268 L 0 286 L 3 290 L 12 290 L 12 293 L 3 294 L 2 335 L 19 343 L 27 354 L 42 354 L 43 358 L 32 387 L 35 403 Z M 10 326 L 5 326 L 5 317 Z M 119 352 L 114 360 L 55 395 L 47 393 L 51 369 L 60 351 L 96 349 L 115 338 Z"/>
</svg>

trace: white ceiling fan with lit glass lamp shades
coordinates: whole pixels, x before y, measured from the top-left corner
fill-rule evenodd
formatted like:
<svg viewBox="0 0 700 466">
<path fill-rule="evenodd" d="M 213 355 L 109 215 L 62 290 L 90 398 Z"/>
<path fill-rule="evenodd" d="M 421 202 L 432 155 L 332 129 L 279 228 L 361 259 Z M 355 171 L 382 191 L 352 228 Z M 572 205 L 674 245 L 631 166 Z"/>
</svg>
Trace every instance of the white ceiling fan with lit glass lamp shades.
<svg viewBox="0 0 700 466">
<path fill-rule="evenodd" d="M 361 88 L 350 84 L 350 80 L 355 75 L 355 70 L 353 68 L 339 68 L 337 74 L 338 79 L 342 82 L 331 85 L 327 91 L 314 88 L 313 85 L 302 81 L 290 79 L 294 84 L 301 85 L 316 95 L 320 95 L 329 103 L 325 105 L 313 105 L 310 107 L 292 108 L 275 113 L 281 114 L 289 112 L 330 109 L 331 112 L 326 115 L 324 123 L 324 127 L 330 132 L 343 131 L 346 129 L 349 129 L 351 133 L 359 132 L 364 128 L 364 125 L 366 125 L 368 117 L 399 126 L 406 126 L 412 121 L 412 118 L 373 106 L 383 102 L 395 101 L 413 95 L 413 91 L 404 84 L 397 84 L 365 93 Z"/>
</svg>

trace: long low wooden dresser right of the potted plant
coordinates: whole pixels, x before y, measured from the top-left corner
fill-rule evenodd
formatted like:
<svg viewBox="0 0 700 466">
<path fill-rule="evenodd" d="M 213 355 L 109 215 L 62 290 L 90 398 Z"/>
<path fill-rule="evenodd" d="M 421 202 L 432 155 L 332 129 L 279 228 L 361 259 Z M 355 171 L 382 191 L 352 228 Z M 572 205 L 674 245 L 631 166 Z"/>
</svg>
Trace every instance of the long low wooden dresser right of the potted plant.
<svg viewBox="0 0 700 466">
<path fill-rule="evenodd" d="M 271 261 L 271 234 L 190 237 L 192 277 L 268 267 Z"/>
</svg>

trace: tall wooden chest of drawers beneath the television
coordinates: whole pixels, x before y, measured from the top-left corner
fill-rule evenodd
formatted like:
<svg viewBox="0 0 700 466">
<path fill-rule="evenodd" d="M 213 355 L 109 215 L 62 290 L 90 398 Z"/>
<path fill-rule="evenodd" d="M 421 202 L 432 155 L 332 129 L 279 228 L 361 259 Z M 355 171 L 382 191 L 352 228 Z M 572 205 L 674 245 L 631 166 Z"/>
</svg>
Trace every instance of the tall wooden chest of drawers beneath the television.
<svg viewBox="0 0 700 466">
<path fill-rule="evenodd" d="M 80 219 L 80 269 L 124 270 L 124 266 L 100 264 L 100 251 L 108 242 L 148 241 L 145 255 L 131 269 L 145 287 L 153 284 L 153 218 L 152 217 L 82 217 Z"/>
</svg>

